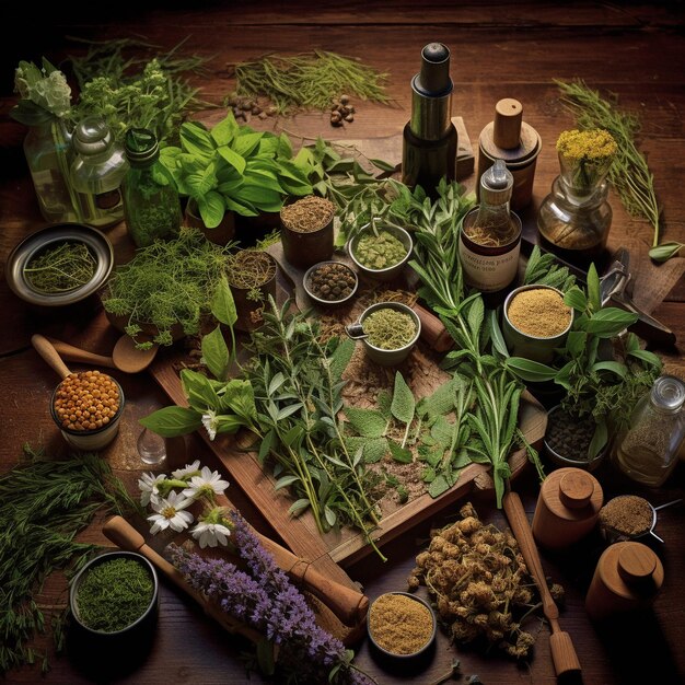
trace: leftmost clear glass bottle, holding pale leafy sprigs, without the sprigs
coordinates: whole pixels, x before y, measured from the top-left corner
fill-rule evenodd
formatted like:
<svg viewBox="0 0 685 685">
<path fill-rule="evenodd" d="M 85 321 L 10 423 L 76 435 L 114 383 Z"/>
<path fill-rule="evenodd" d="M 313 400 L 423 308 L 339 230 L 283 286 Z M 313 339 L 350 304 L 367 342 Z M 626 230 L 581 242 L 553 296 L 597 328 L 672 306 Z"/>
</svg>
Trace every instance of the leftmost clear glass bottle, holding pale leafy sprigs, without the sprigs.
<svg viewBox="0 0 685 685">
<path fill-rule="evenodd" d="M 49 223 L 79 221 L 69 179 L 72 148 L 66 121 L 46 113 L 42 121 L 28 128 L 24 155 L 43 218 Z"/>
</svg>

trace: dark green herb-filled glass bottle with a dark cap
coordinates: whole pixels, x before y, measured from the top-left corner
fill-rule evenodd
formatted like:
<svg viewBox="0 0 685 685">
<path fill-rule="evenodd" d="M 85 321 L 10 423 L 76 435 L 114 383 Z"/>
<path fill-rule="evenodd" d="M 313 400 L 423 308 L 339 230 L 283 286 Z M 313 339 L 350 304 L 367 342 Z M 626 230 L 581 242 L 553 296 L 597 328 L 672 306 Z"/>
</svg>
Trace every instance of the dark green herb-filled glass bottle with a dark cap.
<svg viewBox="0 0 685 685">
<path fill-rule="evenodd" d="M 125 149 L 130 167 L 121 183 L 124 218 L 136 246 L 147 247 L 178 232 L 181 201 L 171 173 L 160 162 L 152 131 L 129 129 Z"/>
</svg>

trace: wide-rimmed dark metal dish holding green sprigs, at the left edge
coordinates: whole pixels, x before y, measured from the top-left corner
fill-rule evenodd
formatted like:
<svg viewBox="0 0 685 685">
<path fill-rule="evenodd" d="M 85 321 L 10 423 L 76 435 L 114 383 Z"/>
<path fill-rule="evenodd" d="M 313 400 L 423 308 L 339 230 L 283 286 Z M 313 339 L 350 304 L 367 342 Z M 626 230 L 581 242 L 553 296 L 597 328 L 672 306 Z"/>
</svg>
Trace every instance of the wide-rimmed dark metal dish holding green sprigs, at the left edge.
<svg viewBox="0 0 685 685">
<path fill-rule="evenodd" d="M 23 239 L 4 272 L 12 292 L 25 302 L 59 307 L 96 298 L 113 265 L 114 251 L 104 233 L 81 223 L 56 223 Z"/>
</svg>

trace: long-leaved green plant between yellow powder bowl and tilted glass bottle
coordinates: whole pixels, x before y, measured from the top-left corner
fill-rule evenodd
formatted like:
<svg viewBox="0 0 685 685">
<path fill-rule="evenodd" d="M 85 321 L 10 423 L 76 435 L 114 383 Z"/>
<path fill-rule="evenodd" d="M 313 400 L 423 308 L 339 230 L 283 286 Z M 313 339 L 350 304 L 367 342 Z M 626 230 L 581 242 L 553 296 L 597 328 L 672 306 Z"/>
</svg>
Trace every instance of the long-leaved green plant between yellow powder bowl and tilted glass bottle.
<svg viewBox="0 0 685 685">
<path fill-rule="evenodd" d="M 619 430 L 637 399 L 651 387 L 661 360 L 641 349 L 635 334 L 624 334 L 637 314 L 602 306 L 594 265 L 588 270 L 587 291 L 573 286 L 564 301 L 576 310 L 576 316 L 559 365 L 509 357 L 506 347 L 499 349 L 512 373 L 524 381 L 554 381 L 567 393 L 561 403 L 565 410 L 579 419 L 594 419 L 596 428 L 588 452 L 592 458 L 608 443 L 609 429 Z"/>
</svg>

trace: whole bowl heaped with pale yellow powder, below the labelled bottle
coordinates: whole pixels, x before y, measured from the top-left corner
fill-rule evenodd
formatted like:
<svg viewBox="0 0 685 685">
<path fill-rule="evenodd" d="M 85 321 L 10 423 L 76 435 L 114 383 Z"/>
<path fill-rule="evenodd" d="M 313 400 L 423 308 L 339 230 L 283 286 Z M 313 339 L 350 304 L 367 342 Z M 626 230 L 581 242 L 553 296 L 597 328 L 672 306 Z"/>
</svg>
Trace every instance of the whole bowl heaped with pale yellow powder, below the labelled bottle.
<svg viewBox="0 0 685 685">
<path fill-rule="evenodd" d="M 502 334 L 514 357 L 549 363 L 573 325 L 573 309 L 550 286 L 521 286 L 504 300 Z"/>
</svg>

